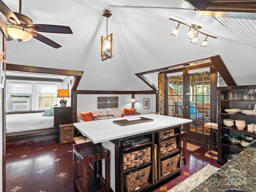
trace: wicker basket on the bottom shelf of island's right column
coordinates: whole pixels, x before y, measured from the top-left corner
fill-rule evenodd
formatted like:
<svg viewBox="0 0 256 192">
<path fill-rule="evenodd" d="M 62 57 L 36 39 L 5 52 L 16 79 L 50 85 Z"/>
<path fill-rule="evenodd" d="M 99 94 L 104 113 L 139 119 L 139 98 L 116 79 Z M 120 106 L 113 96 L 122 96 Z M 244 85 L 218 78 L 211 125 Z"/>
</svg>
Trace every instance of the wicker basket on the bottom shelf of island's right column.
<svg viewBox="0 0 256 192">
<path fill-rule="evenodd" d="M 177 168 L 179 159 L 180 154 L 161 161 L 161 176 L 165 176 L 166 174 L 174 171 Z"/>
</svg>

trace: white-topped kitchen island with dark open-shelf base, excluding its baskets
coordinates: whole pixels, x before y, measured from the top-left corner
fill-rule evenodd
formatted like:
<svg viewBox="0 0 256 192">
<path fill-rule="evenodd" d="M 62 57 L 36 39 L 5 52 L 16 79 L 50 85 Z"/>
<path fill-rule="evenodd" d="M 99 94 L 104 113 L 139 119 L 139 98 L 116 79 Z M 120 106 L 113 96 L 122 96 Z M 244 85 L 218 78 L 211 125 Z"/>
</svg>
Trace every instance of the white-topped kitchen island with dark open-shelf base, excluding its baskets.
<svg viewBox="0 0 256 192">
<path fill-rule="evenodd" d="M 113 121 L 126 120 L 134 117 L 114 118 L 106 120 L 97 120 L 90 122 L 79 122 L 73 125 L 80 133 L 89 138 L 93 143 L 102 143 L 106 149 L 110 150 L 110 187 L 114 192 L 124 192 L 124 177 L 135 168 L 144 168 L 150 166 L 150 176 L 148 182 L 136 189 L 136 191 L 146 191 L 148 188 L 158 184 L 159 182 L 173 176 L 181 174 L 181 161 L 178 159 L 177 168 L 171 172 L 162 175 L 161 160 L 172 156 L 180 156 L 180 141 L 182 124 L 190 123 L 192 120 L 184 118 L 176 118 L 172 116 L 164 116 L 157 114 L 146 114 L 136 116 L 136 118 L 148 118 L 152 121 L 142 122 L 138 124 L 130 124 L 121 126 L 113 123 Z M 135 122 L 135 121 L 134 121 Z M 170 132 L 172 133 L 170 134 Z M 162 138 L 160 134 L 166 133 Z M 168 135 L 169 134 L 169 135 Z M 149 138 L 148 142 L 138 146 L 130 146 L 124 148 L 125 141 L 133 138 L 145 137 Z M 166 154 L 160 154 L 160 145 L 166 140 L 176 141 L 176 148 Z M 171 146 L 169 146 L 171 147 Z M 124 168 L 124 154 L 136 152 L 136 150 L 148 149 L 150 151 L 150 159 L 146 163 L 138 164 L 135 168 Z M 104 163 L 102 163 L 104 165 Z M 104 171 L 104 168 L 102 168 Z M 104 173 L 103 173 L 104 175 Z"/>
</svg>

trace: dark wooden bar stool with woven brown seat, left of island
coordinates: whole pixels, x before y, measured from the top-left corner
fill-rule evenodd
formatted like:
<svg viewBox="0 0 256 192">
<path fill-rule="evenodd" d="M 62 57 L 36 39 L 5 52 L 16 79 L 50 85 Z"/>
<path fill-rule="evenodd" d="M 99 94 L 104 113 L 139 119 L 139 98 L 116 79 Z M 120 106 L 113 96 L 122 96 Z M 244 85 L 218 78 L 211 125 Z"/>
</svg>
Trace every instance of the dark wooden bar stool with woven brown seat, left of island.
<svg viewBox="0 0 256 192">
<path fill-rule="evenodd" d="M 101 160 L 105 159 L 105 179 L 97 171 L 97 162 L 99 167 Z M 77 160 L 82 164 L 82 174 L 78 175 L 77 171 Z M 88 171 L 88 164 L 93 163 L 93 170 Z M 73 166 L 74 166 L 74 189 L 78 187 L 79 192 L 87 192 L 87 174 L 94 173 L 94 181 L 97 175 L 105 184 L 105 188 L 98 190 L 98 192 L 106 190 L 110 192 L 110 152 L 106 148 L 102 147 L 101 144 L 93 144 L 92 142 L 86 142 L 81 144 L 73 144 Z M 100 170 L 100 168 L 99 168 Z M 77 178 L 82 176 L 82 188 L 78 184 Z"/>
</svg>

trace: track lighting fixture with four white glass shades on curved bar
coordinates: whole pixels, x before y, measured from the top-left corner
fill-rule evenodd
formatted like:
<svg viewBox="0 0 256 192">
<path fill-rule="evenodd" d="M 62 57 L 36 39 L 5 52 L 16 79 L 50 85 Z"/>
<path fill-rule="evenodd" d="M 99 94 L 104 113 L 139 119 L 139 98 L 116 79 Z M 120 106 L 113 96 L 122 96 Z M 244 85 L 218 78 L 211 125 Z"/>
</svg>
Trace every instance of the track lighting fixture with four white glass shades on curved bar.
<svg viewBox="0 0 256 192">
<path fill-rule="evenodd" d="M 178 31 L 179 31 L 179 28 L 178 28 L 178 27 L 180 26 L 180 24 L 184 24 L 184 25 L 186 25 L 186 26 L 189 27 L 189 30 L 188 30 L 188 33 L 187 33 L 187 34 L 188 34 L 188 38 L 191 39 L 191 43 L 192 43 L 192 44 L 196 44 L 196 42 L 197 42 L 197 40 L 198 40 L 198 34 L 199 34 L 199 33 L 201 33 L 201 34 L 203 34 L 203 35 L 206 35 L 206 38 L 205 38 L 205 40 L 202 42 L 201 47 L 207 47 L 208 41 L 207 41 L 206 39 L 207 39 L 208 36 L 209 36 L 209 37 L 212 37 L 212 38 L 214 38 L 214 39 L 217 38 L 217 37 L 214 37 L 214 36 L 212 36 L 212 35 L 209 35 L 209 34 L 206 34 L 206 33 L 202 32 L 202 31 L 200 31 L 199 29 L 201 29 L 202 27 L 199 26 L 199 25 L 192 24 L 192 25 L 190 26 L 189 24 L 186 24 L 186 23 L 181 22 L 181 21 L 176 20 L 176 19 L 169 18 L 169 20 L 176 21 L 176 22 L 179 23 L 178 26 L 177 26 L 177 27 L 173 30 L 173 32 L 172 32 L 172 35 L 173 35 L 173 36 L 177 36 Z M 197 32 L 197 34 L 195 34 L 192 30 L 195 30 L 195 31 Z"/>
</svg>

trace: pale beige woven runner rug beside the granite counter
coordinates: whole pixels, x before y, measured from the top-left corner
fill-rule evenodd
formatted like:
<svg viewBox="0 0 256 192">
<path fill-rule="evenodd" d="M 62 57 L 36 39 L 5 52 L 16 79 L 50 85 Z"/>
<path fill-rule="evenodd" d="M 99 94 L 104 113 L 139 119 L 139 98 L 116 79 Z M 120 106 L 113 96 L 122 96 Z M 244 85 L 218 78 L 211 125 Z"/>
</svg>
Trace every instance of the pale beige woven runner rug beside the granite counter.
<svg viewBox="0 0 256 192">
<path fill-rule="evenodd" d="M 176 185 L 174 188 L 168 190 L 168 192 L 190 192 L 218 169 L 219 168 L 208 164 L 186 180 Z"/>
</svg>

